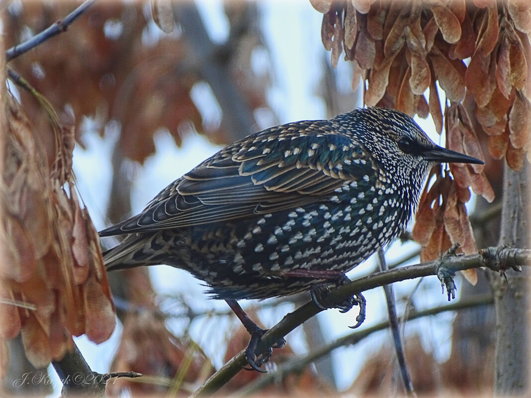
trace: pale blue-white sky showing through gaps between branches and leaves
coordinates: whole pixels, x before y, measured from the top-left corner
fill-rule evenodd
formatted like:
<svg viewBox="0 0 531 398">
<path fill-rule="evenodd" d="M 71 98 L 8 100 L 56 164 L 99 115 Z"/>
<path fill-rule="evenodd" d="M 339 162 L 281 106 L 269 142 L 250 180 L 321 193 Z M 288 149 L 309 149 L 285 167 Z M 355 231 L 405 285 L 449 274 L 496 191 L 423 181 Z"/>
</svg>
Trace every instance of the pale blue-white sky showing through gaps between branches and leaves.
<svg viewBox="0 0 531 398">
<path fill-rule="evenodd" d="M 199 7 L 203 19 L 207 22 L 205 24 L 209 28 L 212 39 L 223 42 L 228 35 L 228 24 L 222 13 L 221 2 L 219 0 L 202 1 L 199 3 Z M 322 14 L 315 11 L 309 1 L 268 1 L 259 3 L 259 8 L 262 14 L 264 39 L 269 47 L 273 65 L 273 86 L 268 92 L 268 100 L 279 122 L 288 123 L 296 120 L 326 117 L 324 103 L 316 95 L 323 73 L 322 57 L 325 53 L 320 36 Z M 287 31 L 289 31 L 288 35 L 286 35 Z M 326 56 L 329 58 L 330 53 L 326 53 Z M 261 66 L 260 62 L 264 59 L 263 57 L 263 54 L 256 55 L 254 67 Z M 342 61 L 341 57 L 338 67 L 342 73 L 345 73 L 341 83 L 348 88 L 350 86 L 350 79 L 347 75 L 349 65 Z M 194 95 L 203 104 L 209 103 L 208 90 L 205 90 L 204 86 L 199 86 Z M 358 106 L 361 106 L 361 103 L 352 103 L 351 107 Z M 210 109 L 205 118 L 215 123 L 216 118 L 219 118 L 219 111 L 216 113 L 216 105 L 205 108 Z M 417 118 L 416 120 L 436 143 L 444 144 L 444 139 L 441 141 L 441 138 L 434 133 L 431 119 Z M 104 138 L 95 133 L 87 133 L 83 137 L 87 149 L 83 150 L 76 146 L 74 150 L 74 171 L 78 180 L 79 191 L 98 229 L 107 226 L 104 215 L 112 172 L 110 158 L 116 137 L 112 126 L 107 128 Z M 162 188 L 220 149 L 219 146 L 210 144 L 199 135 L 187 137 L 182 148 L 177 148 L 170 136 L 163 132 L 156 135 L 156 146 L 157 153 L 145 162 L 143 168 L 138 169 L 138 175 L 136 175 L 132 200 L 133 212 L 135 213 L 141 211 L 144 205 Z M 393 258 L 404 256 L 416 247 L 417 245 L 412 243 L 391 245 L 387 253 L 388 262 L 391 262 Z M 411 262 L 411 264 L 414 263 L 418 263 L 418 258 Z M 371 270 L 373 266 L 374 259 L 371 258 L 350 272 L 348 276 L 355 278 L 357 275 Z M 168 266 L 151 267 L 150 271 L 153 284 L 161 294 L 172 295 L 177 292 L 191 292 L 195 296 L 194 306 L 198 310 L 213 308 L 225 310 L 228 308 L 224 301 L 207 300 L 207 296 L 202 293 L 204 288 L 200 282 L 184 271 Z M 460 280 L 457 279 L 456 282 L 459 288 Z M 395 284 L 396 295 L 412 292 L 417 283 L 418 280 Z M 364 295 L 367 299 L 367 319 L 361 328 L 380 322 L 387 317 L 381 288 L 367 291 Z M 419 309 L 440 305 L 445 301 L 446 294 L 441 294 L 440 283 L 434 276 L 425 278 L 415 293 L 415 305 Z M 243 301 L 242 304 L 245 306 L 247 303 Z M 403 308 L 400 303 L 398 305 L 399 309 Z M 292 309 L 286 305 L 274 310 L 263 310 L 259 314 L 265 325 L 269 327 Z M 319 314 L 318 317 L 321 324 L 324 325 L 327 339 L 333 340 L 350 333 L 351 330 L 347 326 L 355 323 L 357 310 L 358 307 L 354 307 L 349 313 L 340 314 L 338 310 L 331 309 Z M 405 330 L 406 333 L 422 330 L 424 347 L 427 350 L 434 350 L 436 358 L 439 360 L 445 360 L 449 356 L 452 318 L 451 314 L 425 318 L 408 323 Z M 223 330 L 226 330 L 228 326 L 228 319 L 219 319 L 215 327 L 212 327 L 211 322 L 207 324 L 196 321 L 191 329 L 191 337 L 211 356 L 216 367 L 222 365 L 221 355 L 223 354 L 223 352 L 216 351 L 216 345 L 225 339 Z M 178 331 L 182 325 L 177 321 L 168 321 L 168 327 L 170 330 Z M 209 336 L 205 336 L 205 330 L 210 331 Z M 92 370 L 100 373 L 108 371 L 120 333 L 121 326 L 118 325 L 113 337 L 100 345 L 92 344 L 84 338 L 76 339 L 76 343 Z M 299 333 L 300 330 L 296 330 L 289 334 L 286 340 L 297 353 L 303 353 L 307 347 L 299 338 Z M 352 384 L 364 359 L 371 352 L 377 350 L 382 341 L 390 343 L 389 332 L 374 334 L 371 338 L 354 347 L 333 351 L 340 389 L 345 389 Z"/>
</svg>

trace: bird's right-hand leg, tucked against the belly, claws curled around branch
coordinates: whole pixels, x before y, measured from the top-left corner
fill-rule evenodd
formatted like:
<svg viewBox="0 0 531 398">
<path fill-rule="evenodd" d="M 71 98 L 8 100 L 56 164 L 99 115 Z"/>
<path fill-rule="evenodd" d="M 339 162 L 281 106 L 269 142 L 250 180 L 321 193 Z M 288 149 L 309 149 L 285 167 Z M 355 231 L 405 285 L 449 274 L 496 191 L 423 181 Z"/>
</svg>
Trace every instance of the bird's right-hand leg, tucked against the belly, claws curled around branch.
<svg viewBox="0 0 531 398">
<path fill-rule="evenodd" d="M 314 278 L 314 279 L 324 279 L 330 280 L 336 283 L 336 287 L 344 285 L 350 282 L 350 279 L 347 278 L 347 275 L 340 271 L 334 270 L 290 270 L 285 271 L 284 276 L 298 276 L 302 278 Z M 362 293 L 356 293 L 353 297 L 350 297 L 343 301 L 341 304 L 336 304 L 333 307 L 325 307 L 319 301 L 319 298 L 326 297 L 330 291 L 330 285 L 328 283 L 315 283 L 310 288 L 310 296 L 312 298 L 313 304 L 318 306 L 321 309 L 328 308 L 339 308 L 341 313 L 346 313 L 353 306 L 359 305 L 359 314 L 356 317 L 356 324 L 354 326 L 349 326 L 350 328 L 356 328 L 365 321 L 365 310 L 366 310 L 366 300 L 363 297 Z"/>
</svg>

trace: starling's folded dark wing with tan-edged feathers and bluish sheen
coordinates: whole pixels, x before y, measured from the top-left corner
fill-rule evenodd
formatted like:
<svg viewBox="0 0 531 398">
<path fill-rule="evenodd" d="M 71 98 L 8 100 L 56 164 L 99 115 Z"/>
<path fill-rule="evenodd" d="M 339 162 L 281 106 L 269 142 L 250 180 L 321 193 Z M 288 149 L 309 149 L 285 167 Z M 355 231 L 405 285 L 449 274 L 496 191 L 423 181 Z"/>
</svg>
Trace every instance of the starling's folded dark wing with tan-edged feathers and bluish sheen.
<svg viewBox="0 0 531 398">
<path fill-rule="evenodd" d="M 374 173 L 367 154 L 348 137 L 315 133 L 309 127 L 303 135 L 298 126 L 293 134 L 280 130 L 274 131 L 275 136 L 265 131 L 233 144 L 169 185 L 142 213 L 100 235 L 187 227 L 295 209 L 330 200 L 347 181 Z"/>
</svg>

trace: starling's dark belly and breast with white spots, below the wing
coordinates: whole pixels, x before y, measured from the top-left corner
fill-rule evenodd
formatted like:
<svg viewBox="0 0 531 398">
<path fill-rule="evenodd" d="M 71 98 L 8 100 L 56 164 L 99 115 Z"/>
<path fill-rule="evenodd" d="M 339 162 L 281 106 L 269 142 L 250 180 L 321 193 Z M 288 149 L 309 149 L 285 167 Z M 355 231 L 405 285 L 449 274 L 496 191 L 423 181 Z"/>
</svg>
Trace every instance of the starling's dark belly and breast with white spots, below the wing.
<svg viewBox="0 0 531 398">
<path fill-rule="evenodd" d="M 403 205 L 365 181 L 293 210 L 190 228 L 200 278 L 281 277 L 293 269 L 347 272 L 405 227 Z M 207 280 L 212 283 L 212 281 Z"/>
</svg>

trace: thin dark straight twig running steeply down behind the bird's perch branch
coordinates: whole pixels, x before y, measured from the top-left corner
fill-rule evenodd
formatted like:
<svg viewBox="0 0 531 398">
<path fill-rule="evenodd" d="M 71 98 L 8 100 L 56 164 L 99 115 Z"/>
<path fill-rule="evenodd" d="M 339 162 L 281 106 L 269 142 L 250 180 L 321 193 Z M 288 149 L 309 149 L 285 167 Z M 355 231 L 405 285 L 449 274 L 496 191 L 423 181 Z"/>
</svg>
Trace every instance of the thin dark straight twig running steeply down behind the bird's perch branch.
<svg viewBox="0 0 531 398">
<path fill-rule="evenodd" d="M 383 249 L 378 250 L 378 264 L 380 271 L 388 271 L 389 268 L 386 263 L 386 256 L 383 253 Z M 398 323 L 397 307 L 395 302 L 395 293 L 393 292 L 393 285 L 383 285 L 383 291 L 386 294 L 387 312 L 389 315 L 389 326 L 391 328 L 391 335 L 393 336 L 393 343 L 395 344 L 395 351 L 397 354 L 398 366 L 400 367 L 400 374 L 402 376 L 402 382 L 404 382 L 404 388 L 407 396 L 416 397 L 415 390 L 413 388 L 413 382 L 409 375 L 407 368 L 406 354 L 404 352 L 404 345 L 402 345 L 402 339 L 400 338 L 400 326 Z"/>
</svg>

